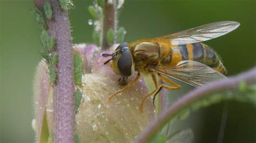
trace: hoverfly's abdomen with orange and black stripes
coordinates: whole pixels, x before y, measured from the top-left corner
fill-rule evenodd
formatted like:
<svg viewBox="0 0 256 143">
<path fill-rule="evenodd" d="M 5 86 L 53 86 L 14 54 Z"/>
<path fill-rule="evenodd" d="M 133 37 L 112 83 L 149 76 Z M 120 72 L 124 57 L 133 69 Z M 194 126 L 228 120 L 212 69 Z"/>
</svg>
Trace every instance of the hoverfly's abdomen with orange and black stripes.
<svg viewBox="0 0 256 143">
<path fill-rule="evenodd" d="M 227 74 L 226 68 L 221 63 L 218 54 L 213 49 L 203 43 L 193 43 L 187 45 L 179 45 L 172 48 L 171 65 L 176 65 L 179 61 L 193 60 Z"/>
</svg>

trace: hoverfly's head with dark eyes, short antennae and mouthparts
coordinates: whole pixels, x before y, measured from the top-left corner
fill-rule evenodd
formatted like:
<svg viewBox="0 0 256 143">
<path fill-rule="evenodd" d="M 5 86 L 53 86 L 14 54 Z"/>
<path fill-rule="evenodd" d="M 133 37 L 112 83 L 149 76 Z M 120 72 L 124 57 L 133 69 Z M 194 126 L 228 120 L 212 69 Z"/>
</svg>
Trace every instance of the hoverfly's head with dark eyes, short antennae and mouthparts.
<svg viewBox="0 0 256 143">
<path fill-rule="evenodd" d="M 133 59 L 127 42 L 120 44 L 114 53 L 103 54 L 103 56 L 112 56 L 112 58 L 107 60 L 104 64 L 112 60 L 111 68 L 114 73 L 122 76 L 122 78 L 119 79 L 119 84 L 125 85 L 127 77 L 134 73 Z"/>
</svg>

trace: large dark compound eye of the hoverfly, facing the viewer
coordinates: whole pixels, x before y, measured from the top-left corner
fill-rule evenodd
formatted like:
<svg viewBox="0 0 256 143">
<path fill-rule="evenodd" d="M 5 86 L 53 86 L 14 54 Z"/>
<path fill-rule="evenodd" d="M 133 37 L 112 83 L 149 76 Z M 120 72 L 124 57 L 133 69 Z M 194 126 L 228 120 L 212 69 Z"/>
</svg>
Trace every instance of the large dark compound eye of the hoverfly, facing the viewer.
<svg viewBox="0 0 256 143">
<path fill-rule="evenodd" d="M 132 57 L 128 47 L 121 49 L 122 53 L 117 61 L 117 67 L 123 76 L 130 76 L 132 74 Z"/>
</svg>

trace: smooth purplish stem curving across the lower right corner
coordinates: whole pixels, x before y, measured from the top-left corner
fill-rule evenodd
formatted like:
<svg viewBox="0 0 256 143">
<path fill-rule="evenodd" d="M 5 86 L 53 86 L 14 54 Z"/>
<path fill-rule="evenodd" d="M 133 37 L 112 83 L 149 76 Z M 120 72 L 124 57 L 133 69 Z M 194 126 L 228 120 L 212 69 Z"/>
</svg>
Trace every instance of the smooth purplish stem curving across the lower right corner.
<svg viewBox="0 0 256 143">
<path fill-rule="evenodd" d="M 224 80 L 215 81 L 211 85 L 205 85 L 188 92 L 185 96 L 181 97 L 177 102 L 173 103 L 167 110 L 161 113 L 161 115 L 151 122 L 149 126 L 139 135 L 135 142 L 150 142 L 151 138 L 158 133 L 165 124 L 167 124 L 173 117 L 177 115 L 179 111 L 184 109 L 188 104 L 196 101 L 199 98 L 203 98 L 208 94 L 215 91 L 221 91 L 224 89 L 235 88 L 240 82 L 252 83 L 256 81 L 256 67 L 250 71 L 246 71 L 237 76 L 233 76 Z"/>
</svg>

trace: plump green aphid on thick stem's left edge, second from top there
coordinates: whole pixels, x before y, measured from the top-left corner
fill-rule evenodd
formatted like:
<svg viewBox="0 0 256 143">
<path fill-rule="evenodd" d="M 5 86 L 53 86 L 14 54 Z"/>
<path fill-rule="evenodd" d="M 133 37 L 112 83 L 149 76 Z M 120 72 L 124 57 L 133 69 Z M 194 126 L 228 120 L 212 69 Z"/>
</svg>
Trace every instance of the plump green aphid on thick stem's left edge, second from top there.
<svg viewBox="0 0 256 143">
<path fill-rule="evenodd" d="M 46 30 L 42 30 L 41 32 L 41 42 L 46 51 L 51 51 L 53 46 L 55 45 L 54 38 L 50 37 Z"/>
</svg>

